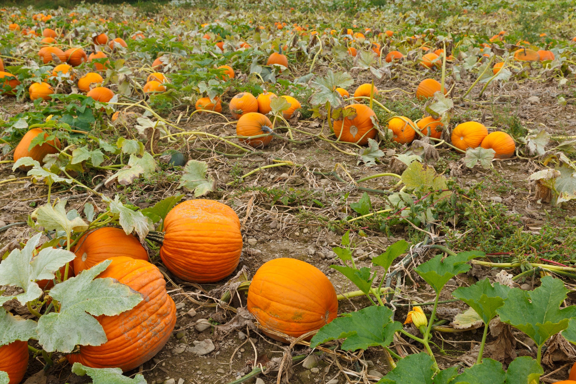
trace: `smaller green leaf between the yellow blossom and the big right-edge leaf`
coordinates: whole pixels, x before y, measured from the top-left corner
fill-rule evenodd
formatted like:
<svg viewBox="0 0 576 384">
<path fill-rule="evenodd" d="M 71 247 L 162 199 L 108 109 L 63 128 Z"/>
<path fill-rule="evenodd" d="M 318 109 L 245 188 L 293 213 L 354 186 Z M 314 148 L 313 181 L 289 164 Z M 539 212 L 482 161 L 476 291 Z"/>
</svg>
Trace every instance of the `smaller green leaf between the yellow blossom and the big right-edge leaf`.
<svg viewBox="0 0 576 384">
<path fill-rule="evenodd" d="M 502 286 L 500 283 L 494 283 L 492 287 L 486 277 L 472 286 L 457 288 L 452 295 L 467 303 L 480 315 L 484 324 L 488 324 L 497 315 L 496 310 L 503 305 L 509 291 L 510 287 Z"/>
</svg>

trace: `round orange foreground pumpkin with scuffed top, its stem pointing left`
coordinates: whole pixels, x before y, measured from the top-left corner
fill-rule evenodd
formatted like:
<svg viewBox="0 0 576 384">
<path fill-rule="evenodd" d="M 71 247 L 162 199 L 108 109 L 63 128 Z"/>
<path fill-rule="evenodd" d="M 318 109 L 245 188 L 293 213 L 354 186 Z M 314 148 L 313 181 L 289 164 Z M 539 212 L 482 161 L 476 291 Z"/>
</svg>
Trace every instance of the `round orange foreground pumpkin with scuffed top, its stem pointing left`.
<svg viewBox="0 0 576 384">
<path fill-rule="evenodd" d="M 214 283 L 240 262 L 242 234 L 236 212 L 214 200 L 186 200 L 166 215 L 160 258 L 187 282 Z"/>
</svg>

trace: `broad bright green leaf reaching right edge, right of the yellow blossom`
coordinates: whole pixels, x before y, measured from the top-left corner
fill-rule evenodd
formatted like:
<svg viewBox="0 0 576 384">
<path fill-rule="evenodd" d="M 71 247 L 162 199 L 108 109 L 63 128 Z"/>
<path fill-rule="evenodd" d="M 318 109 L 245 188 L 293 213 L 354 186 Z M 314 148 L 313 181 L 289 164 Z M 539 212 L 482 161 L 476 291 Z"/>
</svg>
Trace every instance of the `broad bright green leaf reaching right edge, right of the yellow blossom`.
<svg viewBox="0 0 576 384">
<path fill-rule="evenodd" d="M 568 327 L 576 317 L 576 306 L 560 309 L 568 290 L 560 279 L 544 276 L 533 291 L 511 288 L 504 305 L 497 310 L 500 320 L 526 333 L 537 345 Z"/>
</svg>

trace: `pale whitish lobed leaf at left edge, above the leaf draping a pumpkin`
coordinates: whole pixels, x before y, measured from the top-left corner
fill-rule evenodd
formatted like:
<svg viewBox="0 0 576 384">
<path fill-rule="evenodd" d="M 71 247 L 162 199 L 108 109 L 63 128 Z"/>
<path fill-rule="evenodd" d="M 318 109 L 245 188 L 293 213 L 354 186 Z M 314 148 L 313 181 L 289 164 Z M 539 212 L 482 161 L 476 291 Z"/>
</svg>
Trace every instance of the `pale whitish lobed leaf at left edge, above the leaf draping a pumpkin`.
<svg viewBox="0 0 576 384">
<path fill-rule="evenodd" d="M 36 280 L 54 279 L 55 271 L 74 260 L 75 254 L 65 249 L 44 248 L 32 257 L 42 234 L 36 234 L 26 242 L 24 248 L 14 249 L 0 263 L 0 286 L 16 286 L 24 293 L 15 296 L 0 296 L 0 305 L 17 299 L 22 305 L 37 299 L 42 290 Z"/>
</svg>

